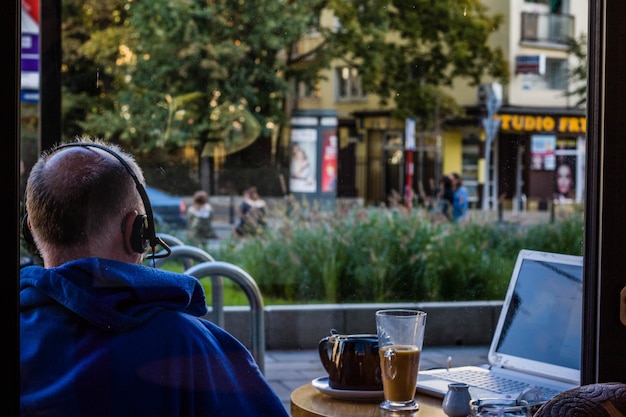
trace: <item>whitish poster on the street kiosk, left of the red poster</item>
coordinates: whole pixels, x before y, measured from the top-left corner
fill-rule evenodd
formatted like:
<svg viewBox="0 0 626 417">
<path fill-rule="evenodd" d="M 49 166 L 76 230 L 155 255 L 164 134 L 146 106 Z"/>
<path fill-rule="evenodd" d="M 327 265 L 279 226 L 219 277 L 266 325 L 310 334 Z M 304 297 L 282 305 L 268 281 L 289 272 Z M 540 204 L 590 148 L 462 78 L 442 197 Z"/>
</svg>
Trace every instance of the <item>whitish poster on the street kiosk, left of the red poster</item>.
<svg viewBox="0 0 626 417">
<path fill-rule="evenodd" d="M 298 193 L 317 191 L 317 131 L 293 129 L 291 131 L 291 164 L 289 189 Z"/>
</svg>

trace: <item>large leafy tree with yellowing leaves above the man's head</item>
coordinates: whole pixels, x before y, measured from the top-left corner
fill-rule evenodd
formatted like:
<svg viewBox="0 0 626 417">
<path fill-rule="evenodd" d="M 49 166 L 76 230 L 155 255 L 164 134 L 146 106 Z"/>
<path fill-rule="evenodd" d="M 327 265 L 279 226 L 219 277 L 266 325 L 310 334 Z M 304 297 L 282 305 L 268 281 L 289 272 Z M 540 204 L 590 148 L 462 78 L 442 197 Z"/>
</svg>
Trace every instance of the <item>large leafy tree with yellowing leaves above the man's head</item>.
<svg viewBox="0 0 626 417">
<path fill-rule="evenodd" d="M 67 39 L 83 41 L 66 57 L 103 72 L 97 99 L 85 106 L 81 93 L 72 96 L 88 109 L 77 112 L 84 115 L 80 127 L 138 153 L 184 146 L 202 155 L 229 153 L 270 135 L 285 117 L 281 56 L 311 17 L 302 2 L 257 6 L 155 0 L 74 7 Z M 81 31 L 84 15 L 100 10 L 106 23 Z M 246 108 L 224 111 L 230 106 Z"/>
</svg>

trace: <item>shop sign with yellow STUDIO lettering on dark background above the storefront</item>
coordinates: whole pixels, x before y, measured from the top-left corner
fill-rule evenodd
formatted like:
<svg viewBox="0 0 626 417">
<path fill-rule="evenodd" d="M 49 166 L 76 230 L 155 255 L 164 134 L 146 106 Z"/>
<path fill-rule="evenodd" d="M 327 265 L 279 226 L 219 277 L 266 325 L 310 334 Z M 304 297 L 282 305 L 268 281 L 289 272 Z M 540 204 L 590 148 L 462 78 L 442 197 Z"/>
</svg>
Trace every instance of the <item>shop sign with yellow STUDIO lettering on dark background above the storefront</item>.
<svg viewBox="0 0 626 417">
<path fill-rule="evenodd" d="M 540 116 L 529 114 L 496 114 L 502 121 L 502 132 L 558 132 L 584 134 L 587 119 L 578 116 Z"/>
</svg>

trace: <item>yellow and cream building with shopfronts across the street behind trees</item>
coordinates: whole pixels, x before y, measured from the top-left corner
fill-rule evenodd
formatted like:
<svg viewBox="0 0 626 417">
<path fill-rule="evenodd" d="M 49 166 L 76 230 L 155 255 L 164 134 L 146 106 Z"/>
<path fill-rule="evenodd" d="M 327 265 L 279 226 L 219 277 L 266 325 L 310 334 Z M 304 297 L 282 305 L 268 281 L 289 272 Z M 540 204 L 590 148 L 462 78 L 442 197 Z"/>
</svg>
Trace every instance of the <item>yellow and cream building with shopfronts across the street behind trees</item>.
<svg viewBox="0 0 626 417">
<path fill-rule="evenodd" d="M 381 107 L 376 97 L 365 94 L 353 69 L 338 61 L 315 91 L 298 91 L 294 109 L 336 111 L 338 196 L 381 204 L 394 191 L 404 194 L 407 185 L 417 196 L 428 196 L 441 175 L 458 172 L 476 208 L 483 199 L 491 208 L 503 202 L 514 210 L 547 209 L 555 199 L 581 201 L 585 109 L 575 107 L 576 97 L 566 92 L 576 87 L 570 69 L 580 65 L 570 56 L 568 42 L 586 34 L 588 2 L 483 3 L 505 17 L 489 39 L 510 62 L 510 82 L 502 86 L 493 116 L 499 129 L 490 146 L 486 146 L 483 119 L 487 99 L 492 91 L 499 91 L 492 80 L 484 80 L 478 88 L 457 82 L 446 89 L 466 108 L 466 116 L 437 120 L 434 131 L 415 131 L 412 167 L 407 164 L 411 135 L 406 121 L 394 119 L 390 107 Z M 314 37 L 303 40 L 302 47 L 315 41 Z M 407 170 L 411 170 L 409 177 Z"/>
</svg>

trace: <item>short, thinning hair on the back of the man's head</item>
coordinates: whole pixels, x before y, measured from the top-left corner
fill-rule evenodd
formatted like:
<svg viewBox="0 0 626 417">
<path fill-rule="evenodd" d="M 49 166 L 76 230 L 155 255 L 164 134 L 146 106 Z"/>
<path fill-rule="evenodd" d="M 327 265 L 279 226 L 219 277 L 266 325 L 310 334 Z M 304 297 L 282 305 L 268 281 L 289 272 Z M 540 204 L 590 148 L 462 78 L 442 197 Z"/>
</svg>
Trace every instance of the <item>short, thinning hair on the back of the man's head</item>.
<svg viewBox="0 0 626 417">
<path fill-rule="evenodd" d="M 123 158 L 144 182 L 132 155 L 119 146 L 88 137 L 78 138 L 77 142 L 105 146 Z M 66 160 L 71 169 L 59 166 L 63 162 L 56 161 L 56 157 L 70 151 Z M 63 148 L 59 144 L 42 153 L 28 177 L 28 218 L 37 235 L 49 245 L 85 244 L 130 210 L 145 210 L 133 178 L 119 160 L 96 147 Z"/>
</svg>

